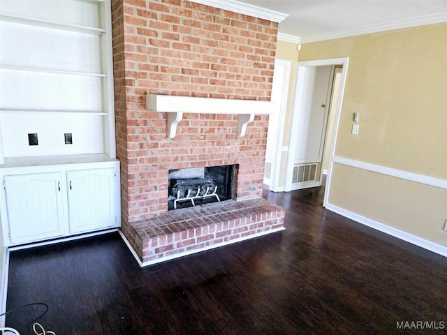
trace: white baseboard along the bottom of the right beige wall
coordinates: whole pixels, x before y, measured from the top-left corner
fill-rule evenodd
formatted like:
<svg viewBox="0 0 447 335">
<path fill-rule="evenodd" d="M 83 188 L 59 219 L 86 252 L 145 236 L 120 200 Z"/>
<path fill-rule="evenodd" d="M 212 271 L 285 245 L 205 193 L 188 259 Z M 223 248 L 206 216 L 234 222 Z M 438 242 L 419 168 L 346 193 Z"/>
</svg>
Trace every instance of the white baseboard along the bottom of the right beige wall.
<svg viewBox="0 0 447 335">
<path fill-rule="evenodd" d="M 447 247 L 445 246 L 441 246 L 432 241 L 427 241 L 427 239 L 422 239 L 413 234 L 409 234 L 408 232 L 404 232 L 403 230 L 390 227 L 389 225 L 385 225 L 383 223 L 380 223 L 379 221 L 366 218 L 365 216 L 353 213 L 352 211 L 348 211 L 346 209 L 343 209 L 342 207 L 335 206 L 334 204 L 326 204 L 326 209 L 334 211 L 335 213 L 340 214 L 346 218 L 350 218 L 351 220 L 361 223 L 362 225 L 367 225 L 370 228 L 374 228 L 388 235 L 397 237 L 398 239 L 402 239 L 411 244 L 420 246 L 421 248 L 425 248 L 429 251 L 447 257 Z"/>
</svg>

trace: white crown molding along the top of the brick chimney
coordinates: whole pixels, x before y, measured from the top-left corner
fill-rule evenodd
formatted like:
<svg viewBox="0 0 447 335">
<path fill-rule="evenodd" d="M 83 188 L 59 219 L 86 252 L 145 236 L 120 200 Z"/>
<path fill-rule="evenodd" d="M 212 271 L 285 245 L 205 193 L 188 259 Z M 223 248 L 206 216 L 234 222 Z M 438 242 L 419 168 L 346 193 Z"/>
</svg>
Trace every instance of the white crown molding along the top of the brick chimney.
<svg viewBox="0 0 447 335">
<path fill-rule="evenodd" d="M 240 13 L 244 15 L 250 15 L 258 17 L 260 19 L 265 19 L 273 22 L 281 22 L 288 14 L 277 12 L 276 10 L 270 10 L 267 8 L 262 8 L 249 3 L 242 3 L 236 0 L 189 0 L 196 3 L 201 3 L 203 5 L 212 6 L 215 8 L 221 8 L 225 10 L 230 10 L 235 13 Z"/>
</svg>

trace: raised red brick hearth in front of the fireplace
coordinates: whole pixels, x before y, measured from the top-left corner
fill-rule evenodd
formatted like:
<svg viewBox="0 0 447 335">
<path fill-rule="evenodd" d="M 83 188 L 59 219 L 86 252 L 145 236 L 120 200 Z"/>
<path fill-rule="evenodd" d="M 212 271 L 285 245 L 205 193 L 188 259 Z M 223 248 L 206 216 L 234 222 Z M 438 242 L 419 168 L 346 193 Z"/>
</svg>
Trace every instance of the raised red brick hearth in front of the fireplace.
<svg viewBox="0 0 447 335">
<path fill-rule="evenodd" d="M 284 209 L 263 199 L 203 204 L 131 223 L 142 265 L 284 230 Z"/>
</svg>

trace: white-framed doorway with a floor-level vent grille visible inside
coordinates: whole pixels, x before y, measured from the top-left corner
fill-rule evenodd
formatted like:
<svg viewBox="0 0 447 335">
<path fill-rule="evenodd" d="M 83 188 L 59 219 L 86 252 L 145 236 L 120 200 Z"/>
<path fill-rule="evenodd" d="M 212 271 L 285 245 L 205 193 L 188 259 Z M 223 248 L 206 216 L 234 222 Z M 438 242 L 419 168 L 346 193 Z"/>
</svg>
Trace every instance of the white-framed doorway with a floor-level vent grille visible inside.
<svg viewBox="0 0 447 335">
<path fill-rule="evenodd" d="M 298 62 L 284 191 L 321 186 L 325 177 L 323 206 L 329 194 L 347 67 L 348 58 Z"/>
</svg>

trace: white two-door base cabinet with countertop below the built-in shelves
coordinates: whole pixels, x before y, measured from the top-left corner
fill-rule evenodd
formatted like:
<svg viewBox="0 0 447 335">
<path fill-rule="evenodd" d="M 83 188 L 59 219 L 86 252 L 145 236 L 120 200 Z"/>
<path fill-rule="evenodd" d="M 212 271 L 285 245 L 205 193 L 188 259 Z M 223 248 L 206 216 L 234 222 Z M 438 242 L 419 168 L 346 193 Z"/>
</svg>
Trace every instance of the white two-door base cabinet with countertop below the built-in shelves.
<svg viewBox="0 0 447 335">
<path fill-rule="evenodd" d="M 6 246 L 120 225 L 119 161 L 106 155 L 7 158 L 0 216 Z"/>
</svg>

